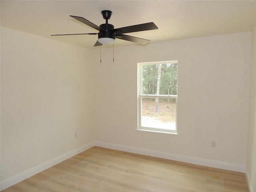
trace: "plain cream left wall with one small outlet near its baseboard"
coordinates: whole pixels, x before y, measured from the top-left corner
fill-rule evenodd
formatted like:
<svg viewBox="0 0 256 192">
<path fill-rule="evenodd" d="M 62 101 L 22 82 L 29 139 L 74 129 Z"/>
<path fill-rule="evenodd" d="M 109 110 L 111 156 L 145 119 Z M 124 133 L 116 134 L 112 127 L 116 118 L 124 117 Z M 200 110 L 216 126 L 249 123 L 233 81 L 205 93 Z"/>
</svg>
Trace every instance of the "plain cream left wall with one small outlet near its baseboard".
<svg viewBox="0 0 256 192">
<path fill-rule="evenodd" d="M 1 181 L 95 140 L 90 52 L 1 27 Z"/>
</svg>

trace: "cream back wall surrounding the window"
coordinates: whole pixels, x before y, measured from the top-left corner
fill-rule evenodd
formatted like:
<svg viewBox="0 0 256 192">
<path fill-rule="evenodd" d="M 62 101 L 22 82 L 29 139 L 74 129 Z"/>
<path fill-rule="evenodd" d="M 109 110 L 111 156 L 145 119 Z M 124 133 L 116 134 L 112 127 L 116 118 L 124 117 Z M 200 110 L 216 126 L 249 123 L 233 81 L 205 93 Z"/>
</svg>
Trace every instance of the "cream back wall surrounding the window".
<svg viewBox="0 0 256 192">
<path fill-rule="evenodd" d="M 96 140 L 245 166 L 250 44 L 247 32 L 116 47 L 114 64 L 112 48 L 102 49 Z M 178 60 L 179 135 L 136 130 L 137 63 L 164 60 Z"/>
</svg>

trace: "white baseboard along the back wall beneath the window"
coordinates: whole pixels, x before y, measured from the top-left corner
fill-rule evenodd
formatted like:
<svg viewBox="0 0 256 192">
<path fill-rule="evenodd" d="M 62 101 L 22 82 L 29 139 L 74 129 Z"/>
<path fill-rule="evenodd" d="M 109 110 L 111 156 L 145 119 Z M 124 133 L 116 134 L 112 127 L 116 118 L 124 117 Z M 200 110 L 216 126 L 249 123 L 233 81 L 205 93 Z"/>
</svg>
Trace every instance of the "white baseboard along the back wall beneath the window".
<svg viewBox="0 0 256 192">
<path fill-rule="evenodd" d="M 212 168 L 219 168 L 219 169 L 242 172 L 242 173 L 245 172 L 245 166 L 237 165 L 237 164 L 230 164 L 230 163 L 226 163 L 226 162 L 194 158 L 194 157 L 189 157 L 189 156 L 182 156 L 182 155 L 177 155 L 177 154 L 170 154 L 170 153 L 165 153 L 165 152 L 158 152 L 158 151 L 110 144 L 110 143 L 99 142 L 99 141 L 95 142 L 95 146 L 105 147 L 105 148 L 110 148 L 110 149 L 115 149 L 115 150 L 120 150 L 120 151 L 126 151 L 126 152 L 131 152 L 131 153 L 136 153 L 136 154 L 142 154 L 142 155 L 147 155 L 147 156 L 153 156 L 153 157 L 158 157 L 158 158 L 164 158 L 164 159 L 169 159 L 169 160 L 175 160 L 175 161 L 180 161 L 180 162 L 186 162 L 186 163 L 191 163 L 191 164 L 196 164 L 196 165 L 202 165 L 202 166 L 207 166 L 207 167 L 212 167 Z"/>
</svg>

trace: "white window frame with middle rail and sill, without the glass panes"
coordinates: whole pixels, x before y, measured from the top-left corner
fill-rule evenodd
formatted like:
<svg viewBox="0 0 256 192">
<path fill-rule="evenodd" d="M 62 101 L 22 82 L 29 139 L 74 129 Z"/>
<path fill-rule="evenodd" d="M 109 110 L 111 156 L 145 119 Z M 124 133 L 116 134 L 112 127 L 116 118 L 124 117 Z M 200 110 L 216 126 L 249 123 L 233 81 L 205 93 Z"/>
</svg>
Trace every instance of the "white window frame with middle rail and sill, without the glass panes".
<svg viewBox="0 0 256 192">
<path fill-rule="evenodd" d="M 160 132 L 160 133 L 168 133 L 168 134 L 178 134 L 178 129 L 177 129 L 177 104 L 178 104 L 178 91 L 177 95 L 156 95 L 156 94 L 142 94 L 142 66 L 143 65 L 150 65 L 150 64 L 166 64 L 166 63 L 177 63 L 178 60 L 171 60 L 171 61 L 160 61 L 160 62 L 139 62 L 138 63 L 138 94 L 137 94 L 137 130 L 142 130 L 142 131 L 150 131 L 150 132 Z M 178 86 L 178 82 L 177 82 Z M 178 87 L 177 87 L 178 88 Z M 145 127 L 142 126 L 142 98 L 175 98 L 176 99 L 176 116 L 175 116 L 175 130 L 167 130 L 167 129 L 161 129 L 161 128 L 152 128 L 152 127 Z"/>
</svg>

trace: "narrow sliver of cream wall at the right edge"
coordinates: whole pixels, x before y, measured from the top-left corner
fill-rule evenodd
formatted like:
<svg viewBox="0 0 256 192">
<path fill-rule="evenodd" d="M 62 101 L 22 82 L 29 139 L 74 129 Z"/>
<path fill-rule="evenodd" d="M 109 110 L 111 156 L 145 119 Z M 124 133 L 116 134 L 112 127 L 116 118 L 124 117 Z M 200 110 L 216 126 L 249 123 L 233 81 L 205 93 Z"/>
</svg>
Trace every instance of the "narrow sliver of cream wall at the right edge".
<svg viewBox="0 0 256 192">
<path fill-rule="evenodd" d="M 256 192 L 256 24 L 252 31 L 251 73 L 250 73 L 250 103 L 249 103 L 249 129 L 248 153 L 246 163 L 246 176 L 251 192 Z"/>
</svg>

